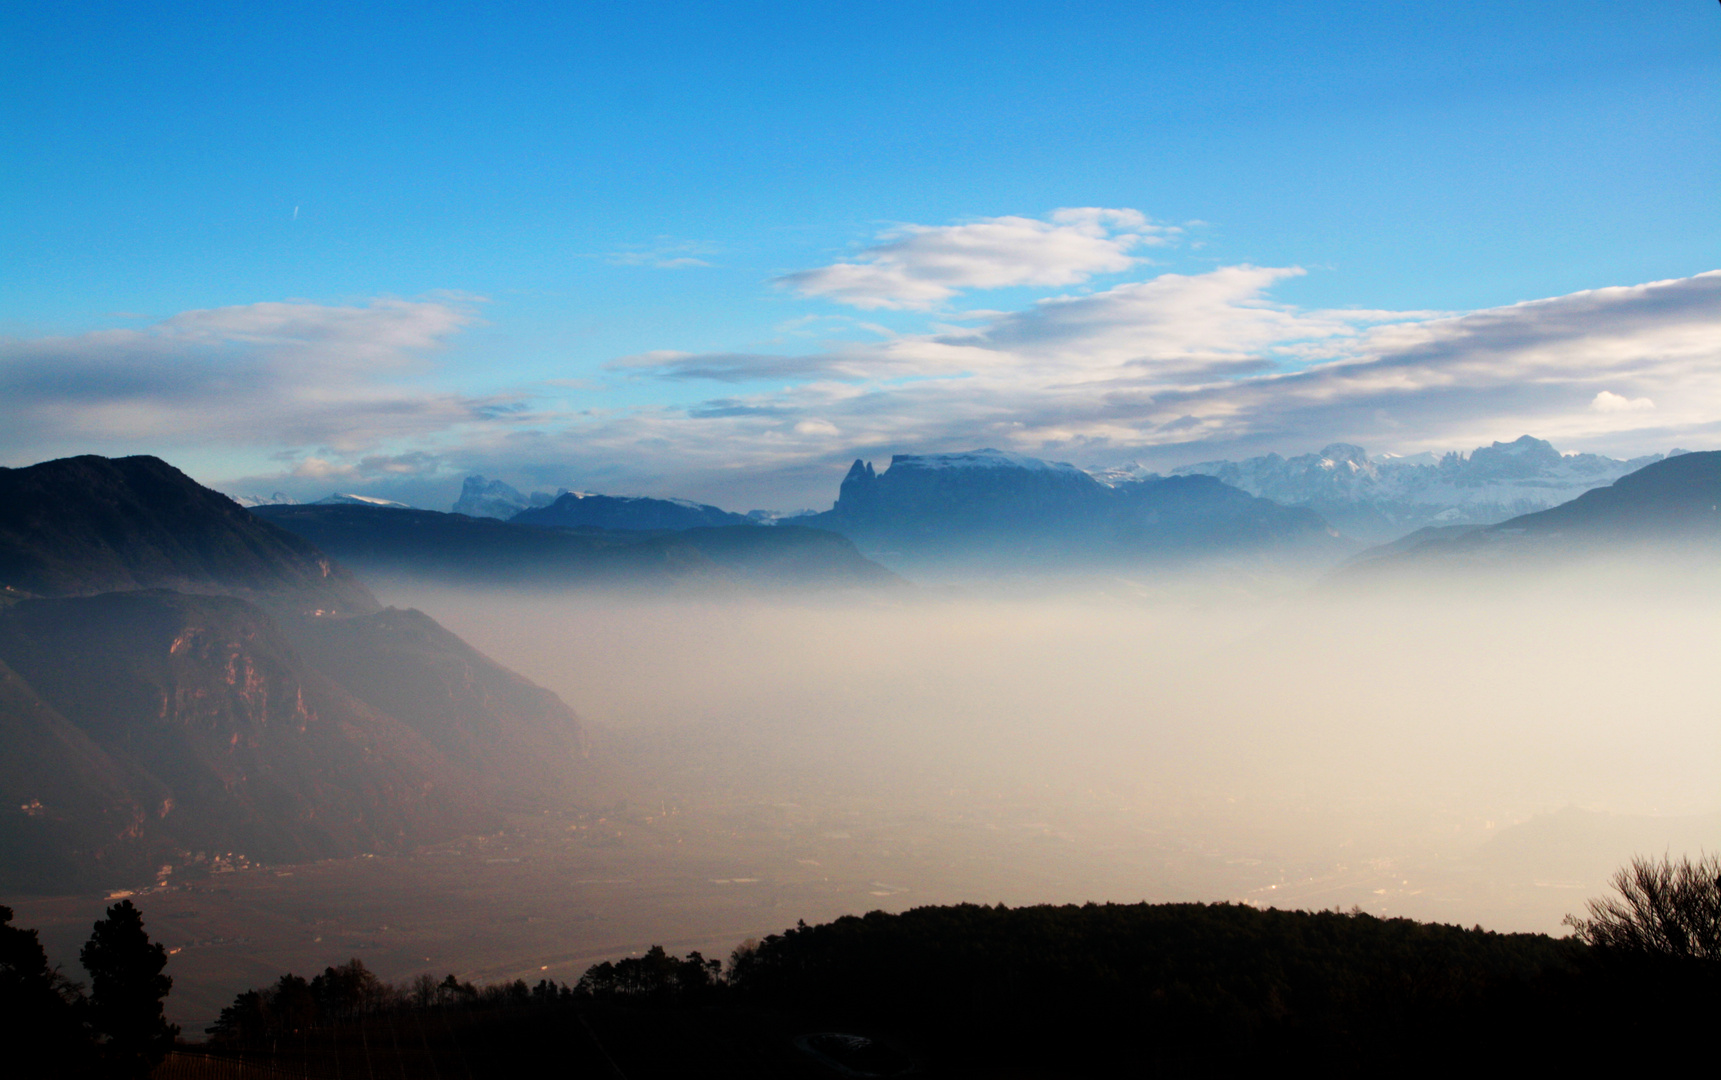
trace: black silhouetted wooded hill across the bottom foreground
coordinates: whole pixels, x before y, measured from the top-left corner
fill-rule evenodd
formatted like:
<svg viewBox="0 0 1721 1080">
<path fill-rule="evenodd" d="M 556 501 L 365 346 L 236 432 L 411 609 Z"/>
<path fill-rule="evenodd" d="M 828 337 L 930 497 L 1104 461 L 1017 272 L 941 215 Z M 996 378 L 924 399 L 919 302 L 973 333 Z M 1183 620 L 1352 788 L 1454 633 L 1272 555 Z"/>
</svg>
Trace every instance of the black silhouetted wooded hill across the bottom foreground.
<svg viewBox="0 0 1721 1080">
<path fill-rule="evenodd" d="M 1642 1070 L 1711 973 L 1573 939 L 1241 905 L 955 905 L 475 987 L 353 961 L 234 999 L 176 1063 L 334 1077 L 1239 1077 Z M 306 972 L 306 975 L 312 975 Z M 403 1039 L 399 1034 L 415 1034 Z M 423 1034 L 418 1037 L 416 1034 Z"/>
</svg>

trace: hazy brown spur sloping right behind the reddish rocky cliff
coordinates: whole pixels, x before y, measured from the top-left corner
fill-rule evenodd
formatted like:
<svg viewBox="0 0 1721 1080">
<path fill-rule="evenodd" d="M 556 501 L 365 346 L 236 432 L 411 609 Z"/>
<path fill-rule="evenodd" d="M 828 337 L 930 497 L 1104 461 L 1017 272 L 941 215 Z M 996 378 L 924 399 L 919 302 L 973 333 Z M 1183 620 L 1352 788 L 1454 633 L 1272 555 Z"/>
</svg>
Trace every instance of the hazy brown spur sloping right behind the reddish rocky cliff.
<svg viewBox="0 0 1721 1080">
<path fill-rule="evenodd" d="M 401 717 L 490 800 L 573 791 L 587 757 L 573 712 L 418 611 L 287 624 L 305 659 L 372 709 Z"/>
</svg>

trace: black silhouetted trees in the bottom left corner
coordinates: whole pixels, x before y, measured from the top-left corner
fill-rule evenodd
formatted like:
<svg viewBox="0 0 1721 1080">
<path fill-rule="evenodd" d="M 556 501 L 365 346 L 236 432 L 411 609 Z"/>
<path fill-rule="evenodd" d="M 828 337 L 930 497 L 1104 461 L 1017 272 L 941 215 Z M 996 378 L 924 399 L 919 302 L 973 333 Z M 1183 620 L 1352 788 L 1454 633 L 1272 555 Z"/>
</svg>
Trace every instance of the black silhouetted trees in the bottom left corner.
<svg viewBox="0 0 1721 1080">
<path fill-rule="evenodd" d="M 9 1077 L 148 1077 L 179 1028 L 162 1016 L 167 953 L 129 899 L 110 906 L 77 954 L 89 991 L 48 966 L 36 930 L 0 905 L 0 1052 Z"/>
</svg>

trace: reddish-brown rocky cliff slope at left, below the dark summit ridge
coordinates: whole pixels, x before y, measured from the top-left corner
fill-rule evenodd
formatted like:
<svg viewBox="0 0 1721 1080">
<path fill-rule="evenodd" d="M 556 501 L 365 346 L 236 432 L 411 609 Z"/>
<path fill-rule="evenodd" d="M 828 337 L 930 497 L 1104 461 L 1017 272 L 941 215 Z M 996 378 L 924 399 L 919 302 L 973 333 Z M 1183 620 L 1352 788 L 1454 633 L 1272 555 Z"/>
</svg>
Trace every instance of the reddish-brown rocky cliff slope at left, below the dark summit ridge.
<svg viewBox="0 0 1721 1080">
<path fill-rule="evenodd" d="M 14 686 L 3 709 L 7 757 L 48 758 L 5 777 L 3 805 L 76 820 L 60 856 L 79 875 L 112 881 L 198 850 L 268 862 L 401 850 L 492 822 L 429 739 L 308 667 L 234 597 L 26 600 L 0 612 L 0 660 L 34 691 Z M 79 788 L 131 820 L 115 831 L 114 813 L 67 805 L 88 798 Z"/>
</svg>

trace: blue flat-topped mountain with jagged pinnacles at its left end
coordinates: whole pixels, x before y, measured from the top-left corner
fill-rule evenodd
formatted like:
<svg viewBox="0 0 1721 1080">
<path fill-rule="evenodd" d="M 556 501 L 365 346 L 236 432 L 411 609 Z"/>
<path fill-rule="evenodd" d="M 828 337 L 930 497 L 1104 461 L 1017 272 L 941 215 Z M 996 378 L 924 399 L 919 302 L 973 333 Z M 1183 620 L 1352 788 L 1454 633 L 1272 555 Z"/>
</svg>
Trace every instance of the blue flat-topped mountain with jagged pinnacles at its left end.
<svg viewBox="0 0 1721 1080">
<path fill-rule="evenodd" d="M 1108 487 L 1074 466 L 1000 451 L 897 454 L 883 473 L 855 461 L 836 504 L 805 523 L 907 564 L 1139 564 L 1335 542 L 1317 512 L 1213 476 Z"/>
</svg>

